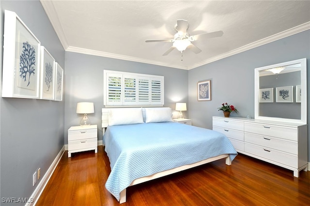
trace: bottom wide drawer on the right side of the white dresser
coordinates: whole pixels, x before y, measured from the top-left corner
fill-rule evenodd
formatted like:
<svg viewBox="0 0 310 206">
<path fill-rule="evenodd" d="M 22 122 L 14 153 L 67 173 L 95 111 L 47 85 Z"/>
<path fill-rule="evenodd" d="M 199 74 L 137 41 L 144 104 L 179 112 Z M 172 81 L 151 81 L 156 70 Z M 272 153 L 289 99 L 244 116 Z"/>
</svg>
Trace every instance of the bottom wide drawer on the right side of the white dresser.
<svg viewBox="0 0 310 206">
<path fill-rule="evenodd" d="M 281 152 L 279 150 L 275 150 L 268 147 L 261 147 L 257 145 L 252 145 L 245 143 L 244 144 L 245 152 L 250 154 L 254 154 L 256 156 L 279 162 L 281 164 L 285 164 L 294 168 L 298 168 L 298 158 L 297 155 Z"/>
</svg>

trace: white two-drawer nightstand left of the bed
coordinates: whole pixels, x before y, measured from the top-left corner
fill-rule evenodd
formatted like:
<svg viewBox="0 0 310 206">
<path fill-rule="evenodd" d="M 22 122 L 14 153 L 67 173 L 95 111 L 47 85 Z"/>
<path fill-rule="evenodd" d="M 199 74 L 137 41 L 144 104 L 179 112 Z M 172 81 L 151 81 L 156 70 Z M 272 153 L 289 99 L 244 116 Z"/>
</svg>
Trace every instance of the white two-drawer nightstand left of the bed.
<svg viewBox="0 0 310 206">
<path fill-rule="evenodd" d="M 97 153 L 97 125 L 73 126 L 68 130 L 68 157 L 71 153 L 95 150 Z"/>
</svg>

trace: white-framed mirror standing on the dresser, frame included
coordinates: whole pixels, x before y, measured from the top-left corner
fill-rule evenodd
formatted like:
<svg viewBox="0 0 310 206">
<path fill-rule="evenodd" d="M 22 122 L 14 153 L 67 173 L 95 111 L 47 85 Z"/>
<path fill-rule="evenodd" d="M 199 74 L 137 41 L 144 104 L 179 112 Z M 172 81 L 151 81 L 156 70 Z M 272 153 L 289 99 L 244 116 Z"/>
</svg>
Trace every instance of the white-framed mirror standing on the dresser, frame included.
<svg viewBox="0 0 310 206">
<path fill-rule="evenodd" d="M 307 124 L 307 59 L 255 69 L 255 118 Z"/>
</svg>

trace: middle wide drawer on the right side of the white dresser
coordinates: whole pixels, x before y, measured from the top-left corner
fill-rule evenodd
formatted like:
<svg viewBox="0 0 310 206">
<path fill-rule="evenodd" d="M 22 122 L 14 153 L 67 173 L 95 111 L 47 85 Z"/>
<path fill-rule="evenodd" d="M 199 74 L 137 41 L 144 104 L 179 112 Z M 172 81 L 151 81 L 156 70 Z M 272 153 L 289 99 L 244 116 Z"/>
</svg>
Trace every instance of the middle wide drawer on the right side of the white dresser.
<svg viewBox="0 0 310 206">
<path fill-rule="evenodd" d="M 298 144 L 297 142 L 292 140 L 284 140 L 277 137 L 253 134 L 248 132 L 245 132 L 244 140 L 247 143 L 252 143 L 262 147 L 269 147 L 283 152 L 289 152 L 295 155 L 298 154 Z"/>
</svg>

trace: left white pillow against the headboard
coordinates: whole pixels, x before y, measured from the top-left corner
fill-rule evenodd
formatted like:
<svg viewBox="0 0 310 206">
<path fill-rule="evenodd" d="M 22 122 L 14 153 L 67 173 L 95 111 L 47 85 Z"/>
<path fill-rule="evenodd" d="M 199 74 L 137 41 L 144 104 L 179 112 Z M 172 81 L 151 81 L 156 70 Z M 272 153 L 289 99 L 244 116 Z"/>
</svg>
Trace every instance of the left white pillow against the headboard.
<svg viewBox="0 0 310 206">
<path fill-rule="evenodd" d="M 142 108 L 109 109 L 109 125 L 143 123 Z"/>
</svg>

